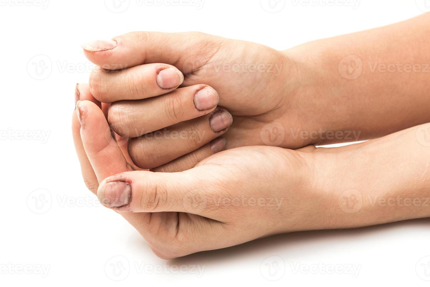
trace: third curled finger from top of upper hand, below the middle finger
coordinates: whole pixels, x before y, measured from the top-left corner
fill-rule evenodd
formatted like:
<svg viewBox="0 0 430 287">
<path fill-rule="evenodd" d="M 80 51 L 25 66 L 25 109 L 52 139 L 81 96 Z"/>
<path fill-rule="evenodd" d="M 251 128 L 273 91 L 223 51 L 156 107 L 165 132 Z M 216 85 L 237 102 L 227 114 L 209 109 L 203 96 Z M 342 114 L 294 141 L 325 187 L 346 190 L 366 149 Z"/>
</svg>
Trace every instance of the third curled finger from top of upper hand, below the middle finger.
<svg viewBox="0 0 430 287">
<path fill-rule="evenodd" d="M 129 155 L 142 169 L 159 167 L 221 136 L 232 122 L 231 114 L 217 107 L 205 116 L 131 139 Z"/>
</svg>

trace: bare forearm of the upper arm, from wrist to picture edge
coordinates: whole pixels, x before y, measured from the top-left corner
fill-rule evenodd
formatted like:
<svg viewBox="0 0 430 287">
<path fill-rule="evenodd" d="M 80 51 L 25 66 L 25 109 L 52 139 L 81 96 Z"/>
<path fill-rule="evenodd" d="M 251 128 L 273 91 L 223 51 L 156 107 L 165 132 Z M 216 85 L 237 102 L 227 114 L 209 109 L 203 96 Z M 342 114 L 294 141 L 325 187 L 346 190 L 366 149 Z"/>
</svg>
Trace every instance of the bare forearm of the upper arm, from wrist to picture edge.
<svg viewBox="0 0 430 287">
<path fill-rule="evenodd" d="M 364 140 L 429 122 L 429 35 L 426 14 L 287 50 L 297 63 L 303 129 L 355 131 Z M 351 140 L 319 136 L 310 143 Z"/>
</svg>

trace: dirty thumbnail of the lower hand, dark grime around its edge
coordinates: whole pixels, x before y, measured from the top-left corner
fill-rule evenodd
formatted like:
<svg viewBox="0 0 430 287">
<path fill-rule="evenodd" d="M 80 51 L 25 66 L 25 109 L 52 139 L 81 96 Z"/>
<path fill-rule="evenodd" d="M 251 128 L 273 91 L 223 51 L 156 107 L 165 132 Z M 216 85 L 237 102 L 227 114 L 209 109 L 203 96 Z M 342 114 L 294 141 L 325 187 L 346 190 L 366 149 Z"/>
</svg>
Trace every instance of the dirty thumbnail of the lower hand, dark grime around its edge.
<svg viewBox="0 0 430 287">
<path fill-rule="evenodd" d="M 129 204 L 132 188 L 126 182 L 107 182 L 97 190 L 97 198 L 107 207 L 121 207 Z"/>
</svg>

